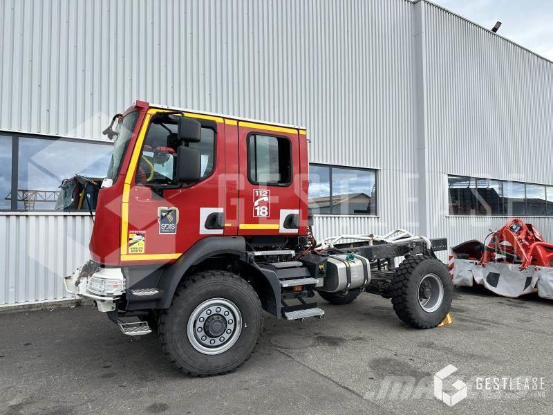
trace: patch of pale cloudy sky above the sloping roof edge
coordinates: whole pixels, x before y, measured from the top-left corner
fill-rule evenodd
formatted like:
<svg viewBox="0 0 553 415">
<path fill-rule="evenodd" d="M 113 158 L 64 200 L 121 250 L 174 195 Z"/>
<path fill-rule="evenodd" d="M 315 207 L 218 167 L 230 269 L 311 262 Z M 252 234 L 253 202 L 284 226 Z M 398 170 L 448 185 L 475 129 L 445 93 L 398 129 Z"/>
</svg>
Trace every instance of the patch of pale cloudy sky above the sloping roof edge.
<svg viewBox="0 0 553 415">
<path fill-rule="evenodd" d="M 496 21 L 498 34 L 553 60 L 553 1 L 551 0 L 431 0 L 485 28 Z"/>
</svg>

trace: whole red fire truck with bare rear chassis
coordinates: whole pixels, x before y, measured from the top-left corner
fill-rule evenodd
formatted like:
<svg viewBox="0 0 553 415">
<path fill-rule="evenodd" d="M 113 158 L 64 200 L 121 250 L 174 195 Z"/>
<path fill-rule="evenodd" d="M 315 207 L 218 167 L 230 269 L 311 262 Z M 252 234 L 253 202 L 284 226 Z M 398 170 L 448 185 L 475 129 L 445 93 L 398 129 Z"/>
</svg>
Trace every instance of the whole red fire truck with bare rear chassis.
<svg viewBox="0 0 553 415">
<path fill-rule="evenodd" d="M 446 317 L 452 284 L 434 254 L 445 239 L 394 230 L 315 241 L 306 129 L 137 101 L 104 134 L 114 147 L 91 261 L 66 288 L 94 299 L 126 335 L 157 331 L 181 371 L 239 367 L 263 311 L 322 317 L 308 301 L 316 293 L 332 304 L 362 292 L 391 298 L 422 329 Z"/>
</svg>

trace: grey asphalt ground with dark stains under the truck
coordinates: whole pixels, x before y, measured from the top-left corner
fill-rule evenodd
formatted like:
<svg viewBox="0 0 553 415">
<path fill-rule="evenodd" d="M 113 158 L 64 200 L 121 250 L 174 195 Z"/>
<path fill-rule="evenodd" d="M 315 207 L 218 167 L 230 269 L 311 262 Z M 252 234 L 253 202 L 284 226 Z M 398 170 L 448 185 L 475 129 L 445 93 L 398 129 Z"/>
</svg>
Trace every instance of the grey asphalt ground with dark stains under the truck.
<svg viewBox="0 0 553 415">
<path fill-rule="evenodd" d="M 1 314 L 0 413 L 553 413 L 551 300 L 456 288 L 453 324 L 416 330 L 388 299 L 318 299 L 323 320 L 265 315 L 252 358 L 212 378 L 182 376 L 155 334 L 122 335 L 93 307 Z M 444 391 L 467 385 L 453 407 L 433 396 L 433 376 L 447 365 L 458 370 Z M 486 381 L 491 390 L 482 390 Z"/>
</svg>

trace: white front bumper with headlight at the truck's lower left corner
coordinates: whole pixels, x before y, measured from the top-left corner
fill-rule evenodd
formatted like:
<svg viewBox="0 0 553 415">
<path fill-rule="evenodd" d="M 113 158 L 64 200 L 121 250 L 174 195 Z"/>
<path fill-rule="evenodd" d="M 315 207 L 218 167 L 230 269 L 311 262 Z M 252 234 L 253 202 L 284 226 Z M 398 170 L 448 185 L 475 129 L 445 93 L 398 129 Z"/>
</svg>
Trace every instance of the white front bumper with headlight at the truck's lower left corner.
<svg viewBox="0 0 553 415">
<path fill-rule="evenodd" d="M 73 275 L 64 278 L 66 291 L 95 299 L 98 310 L 104 313 L 115 310 L 115 301 L 125 292 L 125 277 L 121 268 L 100 268 L 79 281 L 80 273 L 81 268 L 77 268 Z"/>
</svg>

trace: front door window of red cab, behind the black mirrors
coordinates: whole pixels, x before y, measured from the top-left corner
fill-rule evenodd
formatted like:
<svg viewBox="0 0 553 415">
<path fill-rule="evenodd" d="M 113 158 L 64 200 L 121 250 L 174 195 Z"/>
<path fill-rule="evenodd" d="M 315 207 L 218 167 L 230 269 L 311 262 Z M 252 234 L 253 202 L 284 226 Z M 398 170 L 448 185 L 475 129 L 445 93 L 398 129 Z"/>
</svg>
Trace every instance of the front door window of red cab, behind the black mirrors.
<svg viewBox="0 0 553 415">
<path fill-rule="evenodd" d="M 175 169 L 179 145 L 176 120 L 169 116 L 153 118 L 140 154 L 136 183 L 178 185 Z M 191 142 L 189 147 L 200 151 L 203 180 L 212 174 L 215 165 L 215 131 L 202 127 L 200 142 Z"/>
</svg>

